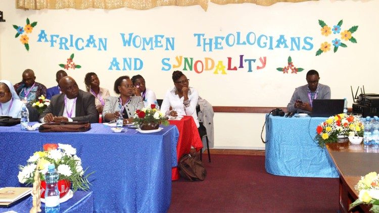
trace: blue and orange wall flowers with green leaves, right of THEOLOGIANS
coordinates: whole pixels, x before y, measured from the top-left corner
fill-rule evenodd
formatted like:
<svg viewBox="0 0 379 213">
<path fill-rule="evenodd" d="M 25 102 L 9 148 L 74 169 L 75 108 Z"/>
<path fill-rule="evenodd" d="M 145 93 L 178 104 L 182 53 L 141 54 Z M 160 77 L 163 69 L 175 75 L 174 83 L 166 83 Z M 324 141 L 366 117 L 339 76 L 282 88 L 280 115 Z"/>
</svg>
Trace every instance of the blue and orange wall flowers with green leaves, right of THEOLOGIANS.
<svg viewBox="0 0 379 213">
<path fill-rule="evenodd" d="M 358 26 L 352 26 L 348 30 L 343 30 L 341 32 L 341 26 L 343 24 L 343 20 L 339 21 L 337 25 L 334 25 L 333 28 L 330 28 L 326 23 L 322 20 L 318 20 L 318 24 L 321 26 L 321 35 L 323 36 L 329 36 L 331 32 L 333 32 L 333 35 L 338 35 L 340 34 L 341 37 L 335 38 L 334 40 L 331 40 L 331 44 L 333 44 L 334 48 L 333 51 L 337 52 L 338 48 L 341 47 L 347 47 L 347 45 L 341 40 L 344 41 L 350 41 L 352 43 L 357 43 L 357 40 L 352 36 L 352 34 L 357 31 Z M 341 38 L 341 39 L 340 39 Z M 316 56 L 321 55 L 324 52 L 327 52 L 330 50 L 330 43 L 327 41 L 321 43 L 320 48 L 316 51 Z"/>
</svg>

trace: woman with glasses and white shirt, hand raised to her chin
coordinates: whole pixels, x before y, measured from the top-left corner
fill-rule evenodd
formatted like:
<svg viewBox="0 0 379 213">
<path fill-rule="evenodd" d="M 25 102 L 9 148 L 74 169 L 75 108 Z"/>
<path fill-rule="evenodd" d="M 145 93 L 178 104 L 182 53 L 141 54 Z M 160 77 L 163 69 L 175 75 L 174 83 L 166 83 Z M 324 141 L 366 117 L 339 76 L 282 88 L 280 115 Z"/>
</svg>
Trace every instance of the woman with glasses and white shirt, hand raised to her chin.
<svg viewBox="0 0 379 213">
<path fill-rule="evenodd" d="M 167 116 L 192 116 L 196 126 L 199 128 L 198 115 L 196 114 L 196 105 L 198 104 L 199 93 L 196 89 L 188 87 L 187 77 L 180 72 L 172 73 L 174 87 L 170 88 L 163 99 L 161 111 Z M 170 111 L 170 107 L 172 110 Z"/>
</svg>

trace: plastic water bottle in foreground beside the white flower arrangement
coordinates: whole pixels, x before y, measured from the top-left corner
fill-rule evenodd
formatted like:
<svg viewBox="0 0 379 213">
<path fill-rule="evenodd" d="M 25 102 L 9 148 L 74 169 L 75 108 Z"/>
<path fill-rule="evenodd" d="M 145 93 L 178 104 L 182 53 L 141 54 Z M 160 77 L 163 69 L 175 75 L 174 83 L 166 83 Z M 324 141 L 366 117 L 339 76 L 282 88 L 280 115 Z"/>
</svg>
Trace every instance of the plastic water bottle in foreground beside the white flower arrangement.
<svg viewBox="0 0 379 213">
<path fill-rule="evenodd" d="M 59 190 L 58 190 L 58 173 L 54 164 L 49 165 L 49 171 L 45 174 L 45 212 L 55 213 L 60 210 Z"/>
</svg>

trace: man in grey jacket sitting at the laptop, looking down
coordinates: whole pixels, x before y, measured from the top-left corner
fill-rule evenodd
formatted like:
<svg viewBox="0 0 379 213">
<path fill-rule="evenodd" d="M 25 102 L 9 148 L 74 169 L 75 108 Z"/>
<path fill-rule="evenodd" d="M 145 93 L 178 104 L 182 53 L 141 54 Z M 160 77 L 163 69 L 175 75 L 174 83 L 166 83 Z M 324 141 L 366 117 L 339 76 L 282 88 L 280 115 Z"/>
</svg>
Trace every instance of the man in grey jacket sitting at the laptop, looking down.
<svg viewBox="0 0 379 213">
<path fill-rule="evenodd" d="M 308 84 L 295 89 L 287 105 L 288 112 L 311 113 L 314 99 L 330 99 L 330 87 L 318 83 L 320 77 L 317 71 L 308 71 L 306 80 Z"/>
</svg>

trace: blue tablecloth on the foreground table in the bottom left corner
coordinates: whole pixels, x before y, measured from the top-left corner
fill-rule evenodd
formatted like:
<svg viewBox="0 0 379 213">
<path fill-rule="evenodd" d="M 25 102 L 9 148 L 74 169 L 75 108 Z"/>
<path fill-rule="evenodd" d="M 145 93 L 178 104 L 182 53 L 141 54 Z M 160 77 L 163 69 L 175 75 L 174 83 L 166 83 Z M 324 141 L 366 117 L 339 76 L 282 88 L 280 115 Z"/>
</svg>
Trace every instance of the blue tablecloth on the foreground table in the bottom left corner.
<svg viewBox="0 0 379 213">
<path fill-rule="evenodd" d="M 45 212 L 45 205 L 42 202 L 41 203 L 41 210 Z M 23 201 L 8 207 L 8 208 L 2 208 L 0 207 L 0 212 L 6 212 L 6 211 L 16 211 L 18 213 L 29 213 L 30 208 L 33 206 L 33 198 L 32 196 L 29 196 L 28 198 L 24 199 Z M 60 205 L 60 212 L 64 213 L 75 213 L 75 212 L 93 212 L 93 194 L 92 192 L 84 192 L 84 191 L 76 191 L 72 198 L 67 200 L 66 202 L 61 203 Z"/>
</svg>

